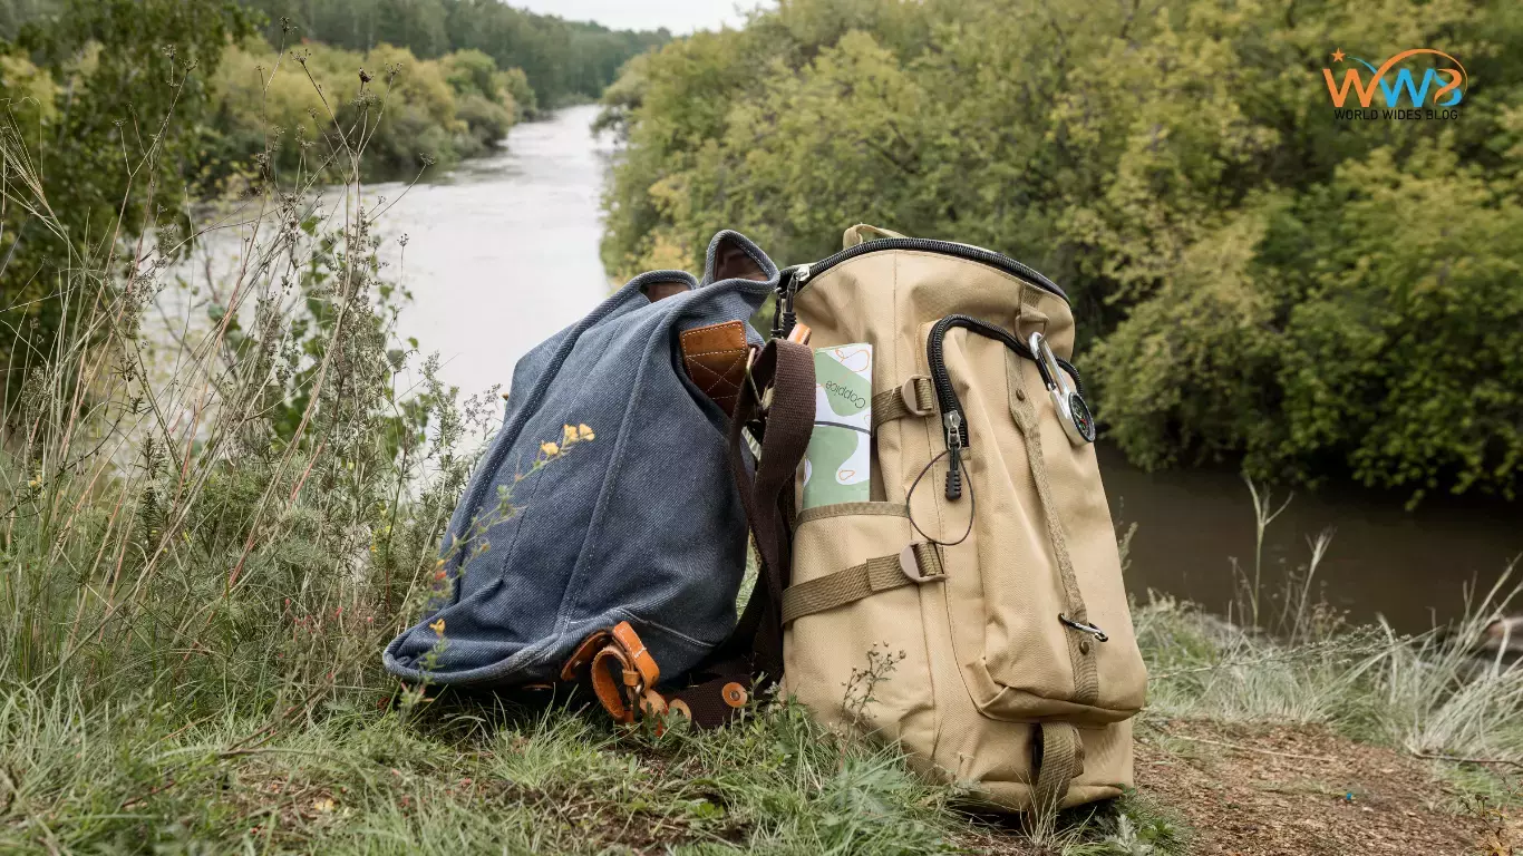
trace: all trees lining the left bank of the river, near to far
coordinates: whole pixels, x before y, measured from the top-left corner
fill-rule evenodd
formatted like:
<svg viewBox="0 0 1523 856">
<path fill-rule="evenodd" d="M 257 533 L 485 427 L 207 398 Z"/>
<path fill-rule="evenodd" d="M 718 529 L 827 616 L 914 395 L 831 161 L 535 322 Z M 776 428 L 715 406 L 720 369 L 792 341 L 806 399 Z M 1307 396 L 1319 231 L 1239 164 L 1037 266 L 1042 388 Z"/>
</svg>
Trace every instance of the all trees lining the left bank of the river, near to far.
<svg viewBox="0 0 1523 856">
<path fill-rule="evenodd" d="M 47 178 L 46 210 L 0 210 L 6 384 L 50 356 L 82 257 L 149 233 L 189 247 L 193 201 L 271 171 L 337 161 L 347 180 L 340 129 L 364 137 L 367 177 L 469 157 L 536 111 L 536 88 L 595 96 L 664 40 L 492 0 L 0 0 L 0 133 L 27 158 L 5 172 Z M 136 250 L 116 253 L 123 282 Z"/>
</svg>

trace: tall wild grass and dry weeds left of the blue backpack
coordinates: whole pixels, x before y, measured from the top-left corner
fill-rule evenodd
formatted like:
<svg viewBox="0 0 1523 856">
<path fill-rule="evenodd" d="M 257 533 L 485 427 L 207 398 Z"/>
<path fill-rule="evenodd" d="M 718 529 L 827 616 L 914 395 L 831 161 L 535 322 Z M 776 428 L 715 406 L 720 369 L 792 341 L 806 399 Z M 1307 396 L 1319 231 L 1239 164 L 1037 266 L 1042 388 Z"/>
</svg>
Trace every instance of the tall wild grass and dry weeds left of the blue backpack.
<svg viewBox="0 0 1523 856">
<path fill-rule="evenodd" d="M 300 59 L 271 78 L 282 62 Z M 321 99 L 327 131 L 299 168 L 262 158 L 195 235 L 65 235 L 56 347 L 8 331 L 0 688 L 279 717 L 390 692 L 378 646 L 416 608 L 490 410 L 433 363 L 411 381 L 391 335 L 384 201 L 359 175 L 394 75 Z M 154 178 L 177 129 L 146 131 L 125 136 L 123 169 L 151 201 L 178 192 Z M 0 134 L 8 219 L 62 235 L 24 139 L 14 119 Z M 334 169 L 349 181 L 317 183 Z M 161 302 L 207 242 L 236 245 L 236 267 Z M 183 315 L 157 321 L 164 306 Z"/>
</svg>

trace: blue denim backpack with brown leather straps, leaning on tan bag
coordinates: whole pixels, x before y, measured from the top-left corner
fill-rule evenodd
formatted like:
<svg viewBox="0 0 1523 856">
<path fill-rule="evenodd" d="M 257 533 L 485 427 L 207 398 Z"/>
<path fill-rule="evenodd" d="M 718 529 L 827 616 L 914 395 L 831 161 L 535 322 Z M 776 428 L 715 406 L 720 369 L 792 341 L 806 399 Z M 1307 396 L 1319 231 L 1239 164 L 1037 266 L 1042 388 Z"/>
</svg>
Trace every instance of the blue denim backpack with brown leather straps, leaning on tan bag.
<svg viewBox="0 0 1523 856">
<path fill-rule="evenodd" d="M 813 411 L 809 350 L 763 347 L 748 323 L 777 285 L 762 250 L 720 232 L 701 282 L 637 276 L 525 355 L 449 522 L 429 614 L 387 646 L 387 670 L 583 684 L 615 719 L 672 710 L 699 725 L 777 679 L 786 487 Z M 763 394 L 803 417 L 765 419 Z M 737 621 L 748 512 L 763 571 Z"/>
</svg>

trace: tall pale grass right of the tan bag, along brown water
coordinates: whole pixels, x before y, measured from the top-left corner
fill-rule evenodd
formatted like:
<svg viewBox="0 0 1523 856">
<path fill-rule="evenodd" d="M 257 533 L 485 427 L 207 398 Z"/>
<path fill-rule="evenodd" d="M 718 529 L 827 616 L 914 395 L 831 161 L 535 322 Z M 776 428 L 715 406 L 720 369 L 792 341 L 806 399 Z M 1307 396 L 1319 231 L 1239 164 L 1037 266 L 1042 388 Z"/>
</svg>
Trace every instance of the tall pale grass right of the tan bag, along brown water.
<svg viewBox="0 0 1523 856">
<path fill-rule="evenodd" d="M 1263 544 L 1285 506 L 1250 487 Z M 1307 562 L 1281 592 L 1264 591 L 1258 559 L 1252 576 L 1234 568 L 1231 612 L 1241 624 L 1157 594 L 1136 606 L 1151 679 L 1145 716 L 1325 723 L 1447 765 L 1523 769 L 1523 660 L 1482 653 L 1486 628 L 1517 609 L 1523 585 L 1512 568 L 1479 597 L 1471 592 L 1459 620 L 1398 634 L 1384 620 L 1348 624 L 1313 597 L 1333 538 L 1328 530 L 1307 541 Z M 1270 594 L 1281 600 L 1273 617 Z"/>
</svg>

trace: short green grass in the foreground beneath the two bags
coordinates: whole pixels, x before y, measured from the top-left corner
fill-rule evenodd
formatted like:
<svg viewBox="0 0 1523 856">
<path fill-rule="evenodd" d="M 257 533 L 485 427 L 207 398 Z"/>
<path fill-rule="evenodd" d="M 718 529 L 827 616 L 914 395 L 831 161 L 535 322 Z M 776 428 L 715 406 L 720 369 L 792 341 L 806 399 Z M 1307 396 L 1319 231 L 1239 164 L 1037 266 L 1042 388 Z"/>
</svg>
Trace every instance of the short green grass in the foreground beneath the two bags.
<svg viewBox="0 0 1523 856">
<path fill-rule="evenodd" d="M 777 705 L 693 734 L 615 733 L 564 708 L 332 707 L 302 722 L 183 722 L 146 704 L 14 693 L 0 710 L 0 851 L 940 853 L 1014 827 L 892 752 Z M 1051 851 L 1177 853 L 1174 821 L 1127 797 L 1074 812 Z M 1081 842 L 1087 839 L 1087 844 Z M 1065 848 L 1066 847 L 1066 848 Z M 1121 848 L 1118 848 L 1121 847 Z"/>
</svg>

